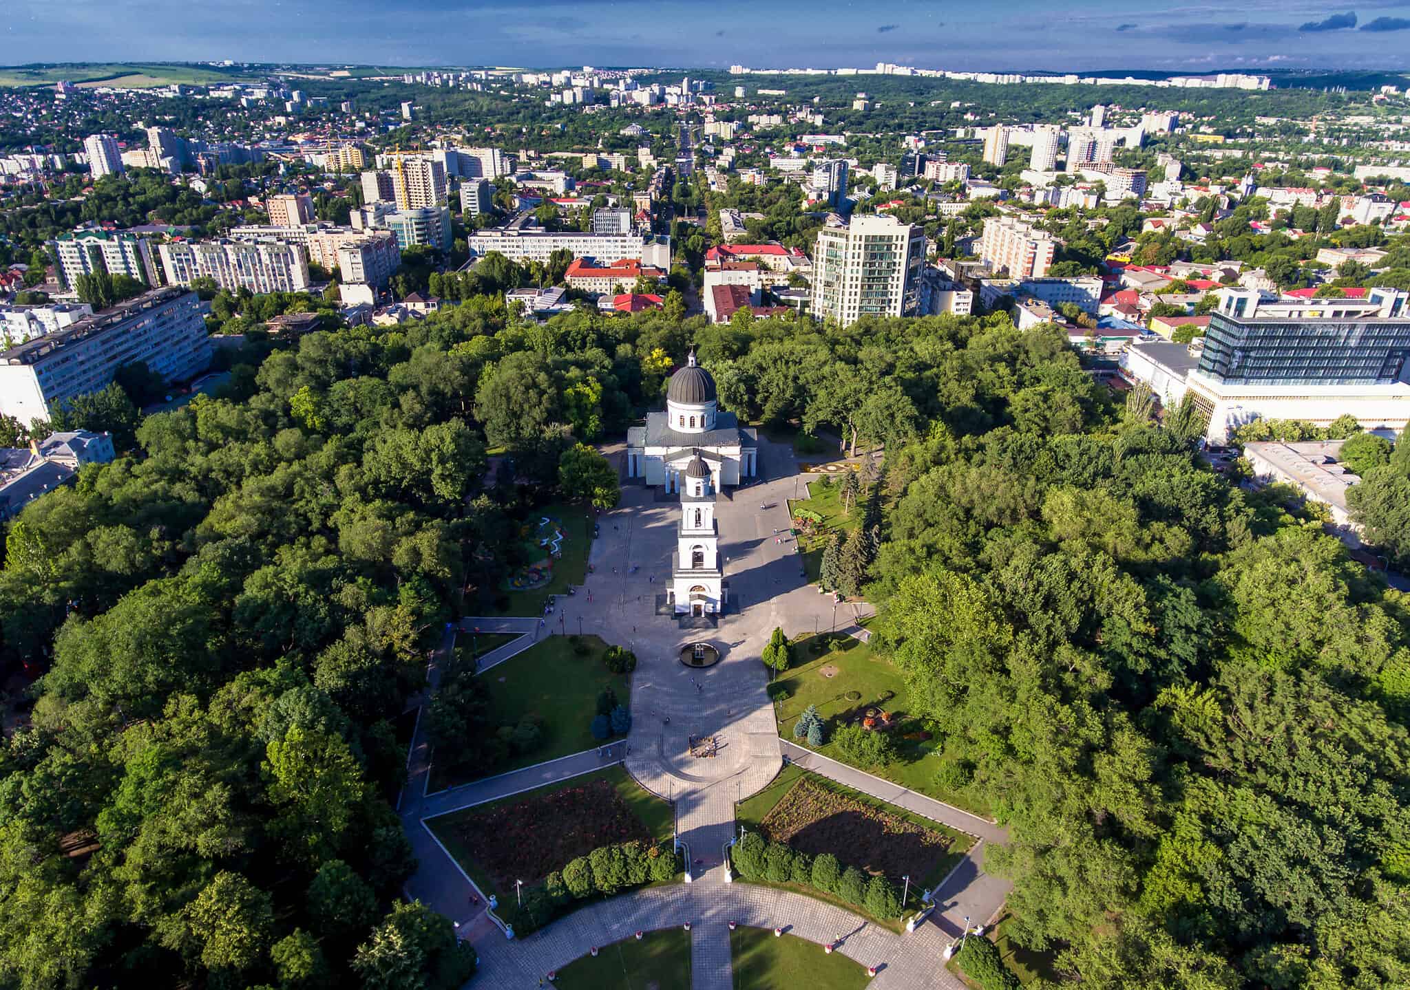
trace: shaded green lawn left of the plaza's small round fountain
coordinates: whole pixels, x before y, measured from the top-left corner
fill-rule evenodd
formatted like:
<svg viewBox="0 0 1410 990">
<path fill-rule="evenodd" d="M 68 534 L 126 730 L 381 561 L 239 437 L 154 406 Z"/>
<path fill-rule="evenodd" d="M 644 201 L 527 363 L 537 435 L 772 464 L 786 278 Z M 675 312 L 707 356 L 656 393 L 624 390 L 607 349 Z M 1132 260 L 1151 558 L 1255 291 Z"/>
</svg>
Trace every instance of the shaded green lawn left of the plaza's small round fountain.
<svg viewBox="0 0 1410 990">
<path fill-rule="evenodd" d="M 574 652 L 577 639 L 587 653 Z M 581 753 L 602 745 L 592 735 L 598 694 L 611 687 L 622 704 L 629 704 L 626 675 L 612 673 L 602 662 L 606 649 L 596 637 L 548 637 L 537 645 L 479 675 L 489 689 L 495 720 L 516 725 L 525 715 L 539 717 L 541 738 L 530 752 L 512 758 L 496 769 L 508 773 L 523 766 Z M 453 767 L 431 766 L 431 790 L 454 787 L 467 780 L 454 776 Z"/>
</svg>

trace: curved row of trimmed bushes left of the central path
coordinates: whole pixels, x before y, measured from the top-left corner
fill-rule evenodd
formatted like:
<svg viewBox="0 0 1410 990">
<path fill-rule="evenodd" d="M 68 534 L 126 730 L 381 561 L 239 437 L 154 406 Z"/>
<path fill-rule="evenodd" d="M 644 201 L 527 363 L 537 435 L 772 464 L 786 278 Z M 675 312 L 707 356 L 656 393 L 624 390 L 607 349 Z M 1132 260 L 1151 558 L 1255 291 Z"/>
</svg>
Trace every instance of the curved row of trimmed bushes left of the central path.
<svg viewBox="0 0 1410 990">
<path fill-rule="evenodd" d="M 565 914 L 572 901 L 602 894 L 611 897 L 644 883 L 674 880 L 681 872 L 680 855 L 670 844 L 623 842 L 598 846 L 587 856 L 570 859 L 534 887 L 523 889 L 523 907 L 515 918 L 515 934 L 527 935 Z"/>
</svg>

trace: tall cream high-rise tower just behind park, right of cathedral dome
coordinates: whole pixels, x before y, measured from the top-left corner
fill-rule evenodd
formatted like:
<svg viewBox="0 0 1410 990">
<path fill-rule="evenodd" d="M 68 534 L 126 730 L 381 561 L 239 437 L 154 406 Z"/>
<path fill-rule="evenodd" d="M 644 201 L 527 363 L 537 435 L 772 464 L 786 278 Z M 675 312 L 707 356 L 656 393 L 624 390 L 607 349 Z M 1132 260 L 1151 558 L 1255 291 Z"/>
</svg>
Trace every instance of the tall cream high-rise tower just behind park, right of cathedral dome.
<svg viewBox="0 0 1410 990">
<path fill-rule="evenodd" d="M 909 317 L 921 306 L 925 231 L 895 217 L 853 217 L 818 231 L 812 314 L 842 325 L 867 315 Z"/>
</svg>

